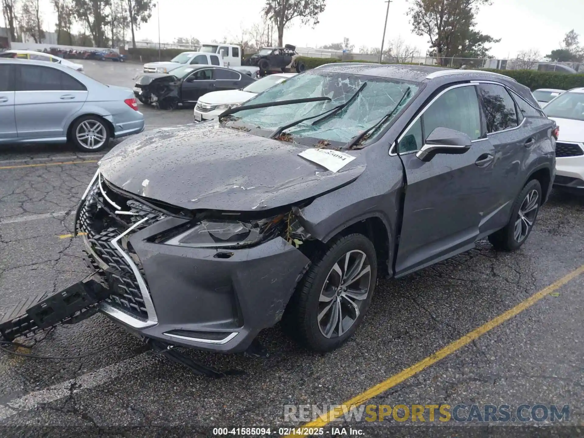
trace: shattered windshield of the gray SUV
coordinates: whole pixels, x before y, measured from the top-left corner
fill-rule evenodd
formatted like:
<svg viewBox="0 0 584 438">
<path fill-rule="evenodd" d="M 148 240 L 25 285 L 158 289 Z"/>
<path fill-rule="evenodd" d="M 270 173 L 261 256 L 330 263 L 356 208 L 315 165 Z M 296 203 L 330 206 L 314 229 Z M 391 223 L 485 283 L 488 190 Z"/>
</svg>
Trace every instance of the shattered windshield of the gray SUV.
<svg viewBox="0 0 584 438">
<path fill-rule="evenodd" d="M 317 121 L 319 117 L 315 117 L 290 127 L 284 131 L 280 139 L 301 142 L 301 139 L 305 137 L 346 143 L 393 111 L 393 116 L 385 120 L 377 128 L 377 132 L 394 119 L 419 89 L 419 85 L 398 79 L 312 71 L 267 89 L 248 100 L 246 105 L 322 96 L 331 100 L 242 110 L 234 114 L 229 126 L 244 125 L 274 131 L 291 121 L 317 116 L 346 103 L 364 82 L 367 82 L 367 86 L 342 110 L 322 121 Z M 406 92 L 408 88 L 410 90 Z M 399 107 L 396 108 L 398 103 Z M 315 121 L 317 123 L 313 125 Z"/>
</svg>

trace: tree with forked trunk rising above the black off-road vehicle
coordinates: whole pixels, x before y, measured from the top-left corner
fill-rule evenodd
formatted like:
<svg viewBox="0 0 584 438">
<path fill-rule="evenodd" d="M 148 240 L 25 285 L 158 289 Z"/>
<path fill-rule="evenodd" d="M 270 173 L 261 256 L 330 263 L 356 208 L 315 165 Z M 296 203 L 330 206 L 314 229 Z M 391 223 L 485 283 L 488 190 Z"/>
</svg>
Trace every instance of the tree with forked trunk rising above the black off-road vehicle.
<svg viewBox="0 0 584 438">
<path fill-rule="evenodd" d="M 325 10 L 325 0 L 266 0 L 263 12 L 278 30 L 278 45 L 284 44 L 284 29 L 295 18 L 307 25 L 318 25 L 318 16 Z"/>
</svg>

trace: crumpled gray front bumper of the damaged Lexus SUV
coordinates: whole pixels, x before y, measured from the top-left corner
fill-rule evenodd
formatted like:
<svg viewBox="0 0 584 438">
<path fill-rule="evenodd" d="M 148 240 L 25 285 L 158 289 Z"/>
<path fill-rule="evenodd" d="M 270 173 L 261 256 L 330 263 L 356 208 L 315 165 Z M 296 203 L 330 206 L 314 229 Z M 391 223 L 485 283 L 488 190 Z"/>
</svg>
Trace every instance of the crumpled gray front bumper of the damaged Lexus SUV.
<svg viewBox="0 0 584 438">
<path fill-rule="evenodd" d="M 260 330 L 281 319 L 308 258 L 282 238 L 230 251 L 147 241 L 177 221 L 165 218 L 129 239 L 144 273 L 142 294 L 153 305 L 148 321 L 111 301 L 100 311 L 137 335 L 172 345 L 245 351 Z M 85 237 L 84 243 L 93 265 L 106 267 Z"/>
</svg>

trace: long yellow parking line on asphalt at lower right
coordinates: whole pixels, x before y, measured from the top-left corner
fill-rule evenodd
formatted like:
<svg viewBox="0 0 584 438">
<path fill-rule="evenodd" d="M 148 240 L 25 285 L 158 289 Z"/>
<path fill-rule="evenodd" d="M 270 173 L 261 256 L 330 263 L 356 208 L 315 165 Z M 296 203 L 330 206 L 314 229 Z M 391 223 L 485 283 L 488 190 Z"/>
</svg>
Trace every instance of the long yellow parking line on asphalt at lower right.
<svg viewBox="0 0 584 438">
<path fill-rule="evenodd" d="M 507 310 L 505 313 L 499 315 L 496 318 L 491 319 L 491 321 L 486 322 L 485 324 L 481 325 L 479 328 L 474 329 L 472 332 L 467 333 L 462 338 L 451 342 L 449 345 L 444 347 L 441 350 L 438 350 L 436 353 L 430 354 L 430 356 L 426 357 L 426 359 L 420 360 L 418 363 L 412 365 L 405 370 L 394 374 L 387 380 L 369 388 L 369 390 L 361 392 L 361 394 L 353 397 L 350 400 L 347 400 L 343 403 L 342 409 L 336 408 L 334 411 L 329 411 L 325 418 L 318 418 L 310 423 L 303 425 L 302 427 L 324 427 L 333 419 L 339 418 L 343 415 L 343 412 L 346 412 L 352 408 L 356 408 L 359 405 L 364 404 L 368 400 L 377 395 L 383 394 L 383 392 L 390 390 L 394 386 L 402 383 L 403 381 L 407 380 L 408 378 L 415 376 L 416 374 L 420 373 L 420 371 L 425 370 L 427 367 L 433 365 L 437 361 L 444 359 L 444 357 L 449 356 L 450 354 L 460 350 L 465 345 L 468 345 L 473 340 L 479 338 L 480 336 L 484 335 L 486 332 L 491 331 L 493 328 L 503 324 L 503 322 L 515 317 L 517 314 L 520 314 L 524 310 L 530 308 L 532 305 L 536 304 L 542 298 L 548 296 L 553 291 L 557 290 L 558 288 L 564 286 L 564 284 L 568 283 L 578 277 L 580 274 L 584 273 L 584 265 L 580 266 L 578 269 L 573 270 L 569 274 L 566 274 L 564 277 L 556 281 L 555 283 L 550 284 L 550 286 L 545 287 L 544 289 L 540 290 L 539 292 L 534 293 L 532 296 L 527 298 L 526 300 L 522 301 L 521 303 L 517 304 L 515 307 Z M 305 436 L 303 434 L 294 435 L 290 434 L 287 436 Z"/>
</svg>

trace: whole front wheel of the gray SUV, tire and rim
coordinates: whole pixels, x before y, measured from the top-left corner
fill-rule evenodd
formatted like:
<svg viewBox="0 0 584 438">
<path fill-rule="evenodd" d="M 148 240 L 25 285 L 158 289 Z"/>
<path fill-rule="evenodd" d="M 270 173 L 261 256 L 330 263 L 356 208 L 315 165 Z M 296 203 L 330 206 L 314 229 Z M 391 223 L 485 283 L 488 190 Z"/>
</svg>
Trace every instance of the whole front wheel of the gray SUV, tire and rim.
<svg viewBox="0 0 584 438">
<path fill-rule="evenodd" d="M 284 315 L 284 328 L 300 343 L 328 352 L 361 324 L 377 279 L 373 244 L 362 234 L 338 238 L 298 283 Z"/>
</svg>

